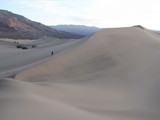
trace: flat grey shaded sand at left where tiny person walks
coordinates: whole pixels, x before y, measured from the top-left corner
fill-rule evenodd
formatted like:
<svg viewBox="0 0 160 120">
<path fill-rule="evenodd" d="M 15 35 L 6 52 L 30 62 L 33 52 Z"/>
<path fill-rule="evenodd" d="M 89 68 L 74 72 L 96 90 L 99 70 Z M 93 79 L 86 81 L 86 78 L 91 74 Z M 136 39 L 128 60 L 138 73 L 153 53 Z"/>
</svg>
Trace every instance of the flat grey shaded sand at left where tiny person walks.
<svg viewBox="0 0 160 120">
<path fill-rule="evenodd" d="M 52 57 L 51 51 L 54 51 L 54 55 L 56 55 L 64 50 L 75 47 L 81 42 L 80 40 L 69 41 L 64 39 L 56 39 L 55 41 L 54 38 L 48 38 L 48 41 L 45 40 L 46 39 L 41 39 L 40 41 L 1 39 L 0 77 L 13 76 L 21 70 L 35 66 L 50 59 L 50 57 Z M 17 49 L 17 44 L 15 41 L 18 42 L 19 45 L 29 47 L 29 49 Z M 36 48 L 32 48 L 32 45 L 35 45 Z"/>
</svg>

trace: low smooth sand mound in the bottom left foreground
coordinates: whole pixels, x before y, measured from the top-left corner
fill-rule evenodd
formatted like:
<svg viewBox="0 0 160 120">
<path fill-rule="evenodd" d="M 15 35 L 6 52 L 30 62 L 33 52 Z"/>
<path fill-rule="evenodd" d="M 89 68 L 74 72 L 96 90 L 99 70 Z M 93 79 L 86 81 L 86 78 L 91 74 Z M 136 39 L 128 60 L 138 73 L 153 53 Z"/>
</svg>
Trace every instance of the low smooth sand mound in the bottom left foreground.
<svg viewBox="0 0 160 120">
<path fill-rule="evenodd" d="M 0 118 L 2 120 L 106 120 L 62 102 L 50 100 L 34 91 L 43 90 L 37 85 L 0 80 Z M 82 117 L 83 116 L 83 117 Z"/>
</svg>

